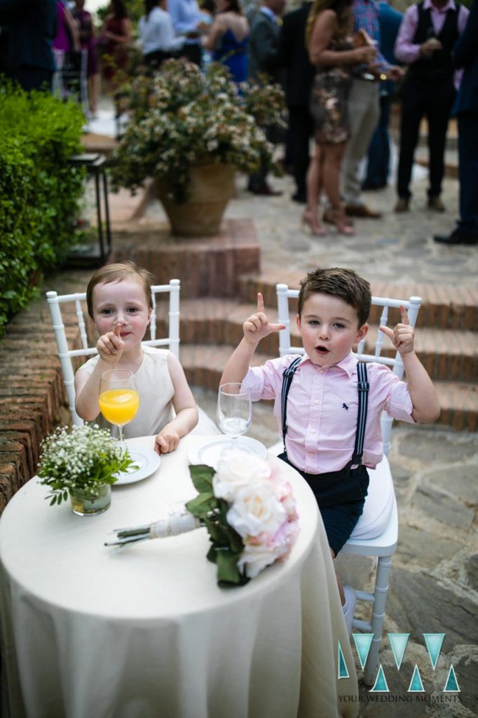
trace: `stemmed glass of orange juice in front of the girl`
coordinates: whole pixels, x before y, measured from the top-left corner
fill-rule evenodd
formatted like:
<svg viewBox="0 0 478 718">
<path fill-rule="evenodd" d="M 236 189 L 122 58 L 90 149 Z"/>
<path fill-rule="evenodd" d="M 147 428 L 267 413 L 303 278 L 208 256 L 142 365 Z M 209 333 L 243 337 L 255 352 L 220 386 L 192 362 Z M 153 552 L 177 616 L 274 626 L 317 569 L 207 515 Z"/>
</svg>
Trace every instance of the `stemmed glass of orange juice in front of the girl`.
<svg viewBox="0 0 478 718">
<path fill-rule="evenodd" d="M 106 421 L 118 426 L 121 445 L 124 447 L 123 426 L 136 416 L 139 409 L 139 394 L 133 372 L 126 369 L 103 371 L 98 401 Z"/>
</svg>

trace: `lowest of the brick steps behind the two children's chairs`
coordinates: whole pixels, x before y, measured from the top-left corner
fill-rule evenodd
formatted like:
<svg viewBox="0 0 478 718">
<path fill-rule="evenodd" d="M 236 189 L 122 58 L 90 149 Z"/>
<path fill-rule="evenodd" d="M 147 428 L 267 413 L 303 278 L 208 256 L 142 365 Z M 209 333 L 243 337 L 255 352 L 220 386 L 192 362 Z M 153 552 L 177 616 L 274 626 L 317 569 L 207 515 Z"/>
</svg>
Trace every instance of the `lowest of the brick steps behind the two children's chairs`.
<svg viewBox="0 0 478 718">
<path fill-rule="evenodd" d="M 202 386 L 217 391 L 225 363 L 230 358 L 229 347 L 210 345 L 182 345 L 181 363 L 187 381 L 193 386 Z M 271 358 L 256 353 L 253 366 L 261 365 Z M 460 381 L 436 381 L 441 414 L 437 424 L 450 426 L 458 431 L 478 430 L 478 384 Z"/>
</svg>

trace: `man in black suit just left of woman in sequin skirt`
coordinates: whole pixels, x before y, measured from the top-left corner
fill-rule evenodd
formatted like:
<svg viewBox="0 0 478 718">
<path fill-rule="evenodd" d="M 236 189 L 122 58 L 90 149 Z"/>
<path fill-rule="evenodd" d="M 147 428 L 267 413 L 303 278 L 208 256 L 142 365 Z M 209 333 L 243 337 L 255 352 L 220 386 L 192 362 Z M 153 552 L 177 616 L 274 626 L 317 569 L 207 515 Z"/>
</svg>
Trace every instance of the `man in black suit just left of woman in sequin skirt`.
<svg viewBox="0 0 478 718">
<path fill-rule="evenodd" d="M 314 121 L 309 99 L 314 67 L 305 44 L 307 18 L 312 3 L 306 2 L 283 18 L 279 37 L 278 62 L 286 68 L 286 103 L 289 110 L 289 139 L 296 192 L 294 202 L 306 202 L 306 174 L 309 168 L 309 140 Z"/>
</svg>

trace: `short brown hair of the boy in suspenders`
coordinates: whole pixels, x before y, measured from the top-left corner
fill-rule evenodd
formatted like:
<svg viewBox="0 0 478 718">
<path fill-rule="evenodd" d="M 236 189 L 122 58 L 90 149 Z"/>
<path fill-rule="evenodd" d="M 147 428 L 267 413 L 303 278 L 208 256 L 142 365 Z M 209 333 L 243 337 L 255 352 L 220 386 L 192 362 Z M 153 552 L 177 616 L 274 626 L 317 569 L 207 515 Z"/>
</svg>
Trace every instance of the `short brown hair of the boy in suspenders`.
<svg viewBox="0 0 478 718">
<path fill-rule="evenodd" d="M 370 284 L 362 279 L 353 269 L 342 269 L 342 267 L 330 267 L 329 269 L 316 269 L 309 271 L 305 279 L 301 281 L 299 292 L 299 317 L 301 317 L 304 302 L 311 294 L 331 294 L 332 297 L 339 297 L 350 304 L 357 312 L 359 327 L 362 327 L 368 320 L 370 304 L 372 303 L 372 292 Z"/>
</svg>

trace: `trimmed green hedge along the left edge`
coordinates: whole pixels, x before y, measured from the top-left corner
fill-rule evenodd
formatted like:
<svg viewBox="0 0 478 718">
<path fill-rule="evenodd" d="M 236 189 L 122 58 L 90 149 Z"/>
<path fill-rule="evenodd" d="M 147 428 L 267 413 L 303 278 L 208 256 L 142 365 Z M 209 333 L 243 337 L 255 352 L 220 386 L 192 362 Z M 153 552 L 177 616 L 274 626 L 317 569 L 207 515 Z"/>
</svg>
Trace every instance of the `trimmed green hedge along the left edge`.
<svg viewBox="0 0 478 718">
<path fill-rule="evenodd" d="M 67 158 L 83 123 L 78 103 L 0 78 L 0 335 L 72 245 L 84 174 Z"/>
</svg>

